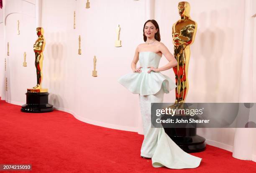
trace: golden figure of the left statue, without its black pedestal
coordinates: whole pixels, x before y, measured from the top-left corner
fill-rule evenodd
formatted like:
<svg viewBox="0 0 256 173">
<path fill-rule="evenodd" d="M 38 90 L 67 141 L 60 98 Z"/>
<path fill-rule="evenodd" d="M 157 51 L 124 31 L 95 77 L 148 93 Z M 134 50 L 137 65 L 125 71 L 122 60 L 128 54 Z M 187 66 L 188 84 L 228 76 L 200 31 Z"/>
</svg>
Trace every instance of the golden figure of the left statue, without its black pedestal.
<svg viewBox="0 0 256 173">
<path fill-rule="evenodd" d="M 44 29 L 43 28 L 36 28 L 36 34 L 38 39 L 33 46 L 35 52 L 35 66 L 36 66 L 36 79 L 37 84 L 33 87 L 33 89 L 28 89 L 28 92 L 47 92 L 47 89 L 42 89 L 41 84 L 43 80 L 43 60 L 44 60 Z"/>
</svg>

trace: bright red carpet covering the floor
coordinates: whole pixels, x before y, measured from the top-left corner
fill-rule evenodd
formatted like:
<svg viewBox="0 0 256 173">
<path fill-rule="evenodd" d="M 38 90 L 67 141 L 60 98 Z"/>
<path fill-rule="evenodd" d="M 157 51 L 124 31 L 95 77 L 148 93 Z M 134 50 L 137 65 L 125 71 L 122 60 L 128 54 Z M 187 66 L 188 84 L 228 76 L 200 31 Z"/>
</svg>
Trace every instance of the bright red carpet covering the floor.
<svg viewBox="0 0 256 173">
<path fill-rule="evenodd" d="M 210 145 L 193 154 L 202 158 L 198 168 L 153 168 L 140 157 L 143 135 L 90 125 L 57 110 L 23 113 L 0 101 L 0 118 L 0 164 L 32 164 L 23 173 L 256 173 L 255 162 Z"/>
</svg>

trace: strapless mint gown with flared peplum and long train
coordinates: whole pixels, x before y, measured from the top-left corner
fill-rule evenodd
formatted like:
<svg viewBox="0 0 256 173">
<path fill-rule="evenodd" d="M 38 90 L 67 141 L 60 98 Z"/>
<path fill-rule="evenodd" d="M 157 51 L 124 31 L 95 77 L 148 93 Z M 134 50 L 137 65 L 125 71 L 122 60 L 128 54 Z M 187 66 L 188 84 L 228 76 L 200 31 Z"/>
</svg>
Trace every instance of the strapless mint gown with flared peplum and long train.
<svg viewBox="0 0 256 173">
<path fill-rule="evenodd" d="M 164 93 L 169 93 L 176 85 L 166 75 L 151 71 L 148 66 L 158 68 L 161 57 L 154 52 L 140 52 L 139 62 L 141 73 L 126 74 L 118 82 L 133 94 L 139 94 L 143 122 L 144 140 L 141 146 L 141 156 L 151 158 L 154 167 L 172 169 L 196 168 L 201 158 L 184 152 L 164 132 L 164 128 L 151 127 L 151 103 L 161 103 Z"/>
</svg>

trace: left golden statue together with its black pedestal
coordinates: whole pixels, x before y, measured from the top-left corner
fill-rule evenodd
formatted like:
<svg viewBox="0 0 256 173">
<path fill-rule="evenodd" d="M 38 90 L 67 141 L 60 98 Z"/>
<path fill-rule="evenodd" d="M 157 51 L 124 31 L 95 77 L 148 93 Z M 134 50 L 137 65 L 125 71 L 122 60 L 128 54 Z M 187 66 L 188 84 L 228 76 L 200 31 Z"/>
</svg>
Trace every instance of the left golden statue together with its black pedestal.
<svg viewBox="0 0 256 173">
<path fill-rule="evenodd" d="M 27 104 L 22 105 L 22 112 L 51 112 L 53 106 L 48 104 L 48 89 L 42 89 L 43 80 L 43 61 L 44 61 L 44 29 L 36 28 L 36 34 L 38 36 L 36 43 L 33 46 L 35 52 L 35 66 L 36 66 L 36 86 L 27 89 Z"/>
</svg>

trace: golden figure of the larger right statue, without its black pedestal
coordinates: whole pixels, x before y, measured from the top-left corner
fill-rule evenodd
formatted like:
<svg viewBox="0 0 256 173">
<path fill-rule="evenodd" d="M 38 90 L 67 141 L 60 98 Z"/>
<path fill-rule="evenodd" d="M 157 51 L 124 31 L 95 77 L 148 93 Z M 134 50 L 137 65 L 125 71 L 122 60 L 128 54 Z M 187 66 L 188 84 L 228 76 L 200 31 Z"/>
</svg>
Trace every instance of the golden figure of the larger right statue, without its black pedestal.
<svg viewBox="0 0 256 173">
<path fill-rule="evenodd" d="M 188 2 L 180 2 L 178 5 L 181 17 L 172 26 L 172 38 L 174 43 L 174 57 L 178 65 L 173 67 L 176 85 L 176 100 L 172 107 L 182 107 L 188 92 L 188 65 L 190 57 L 190 45 L 195 40 L 197 23 L 189 16 L 190 5 Z"/>
</svg>

